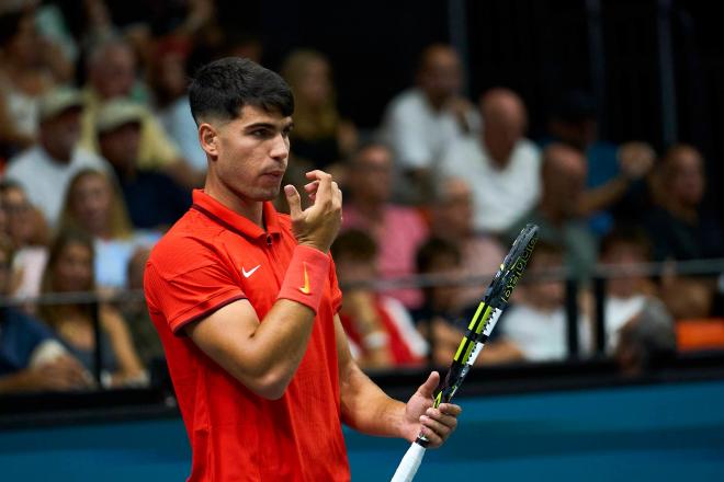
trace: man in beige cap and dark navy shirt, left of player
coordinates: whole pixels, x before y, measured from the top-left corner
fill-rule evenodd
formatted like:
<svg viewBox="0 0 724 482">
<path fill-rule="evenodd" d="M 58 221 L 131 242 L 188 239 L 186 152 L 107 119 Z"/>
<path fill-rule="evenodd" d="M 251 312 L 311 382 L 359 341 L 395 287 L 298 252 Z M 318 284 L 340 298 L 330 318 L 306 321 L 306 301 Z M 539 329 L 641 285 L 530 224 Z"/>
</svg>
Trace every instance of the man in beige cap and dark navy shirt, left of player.
<svg viewBox="0 0 724 482">
<path fill-rule="evenodd" d="M 133 226 L 166 231 L 191 206 L 191 193 L 161 171 L 138 169 L 143 112 L 115 100 L 101 108 L 97 123 L 101 154 L 113 167 Z"/>
</svg>

